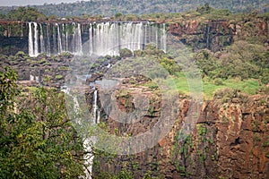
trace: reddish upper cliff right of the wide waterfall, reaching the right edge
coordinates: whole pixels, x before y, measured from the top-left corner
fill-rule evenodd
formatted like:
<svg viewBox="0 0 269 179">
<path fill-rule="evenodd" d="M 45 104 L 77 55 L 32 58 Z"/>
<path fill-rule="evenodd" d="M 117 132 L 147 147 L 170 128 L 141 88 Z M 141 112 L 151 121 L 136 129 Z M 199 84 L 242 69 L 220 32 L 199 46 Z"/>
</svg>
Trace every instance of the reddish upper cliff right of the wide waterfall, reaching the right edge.
<svg viewBox="0 0 269 179">
<path fill-rule="evenodd" d="M 168 31 L 194 49 L 208 48 L 216 52 L 234 40 L 260 38 L 268 43 L 268 21 L 182 21 L 169 24 Z"/>
</svg>

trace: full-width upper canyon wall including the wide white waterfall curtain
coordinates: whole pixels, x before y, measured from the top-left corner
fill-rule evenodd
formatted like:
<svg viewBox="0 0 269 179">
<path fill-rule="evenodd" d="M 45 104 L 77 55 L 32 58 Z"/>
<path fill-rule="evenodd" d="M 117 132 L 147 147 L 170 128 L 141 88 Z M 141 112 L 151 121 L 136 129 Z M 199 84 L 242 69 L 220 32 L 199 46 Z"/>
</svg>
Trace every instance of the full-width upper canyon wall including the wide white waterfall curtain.
<svg viewBox="0 0 269 179">
<path fill-rule="evenodd" d="M 218 51 L 236 39 L 268 38 L 268 21 L 0 21 L 0 52 L 14 55 L 23 51 L 36 56 L 65 51 L 103 55 L 105 51 L 106 55 L 117 55 L 119 48 L 144 49 L 150 42 L 166 50 L 166 30 L 195 50 Z"/>
</svg>

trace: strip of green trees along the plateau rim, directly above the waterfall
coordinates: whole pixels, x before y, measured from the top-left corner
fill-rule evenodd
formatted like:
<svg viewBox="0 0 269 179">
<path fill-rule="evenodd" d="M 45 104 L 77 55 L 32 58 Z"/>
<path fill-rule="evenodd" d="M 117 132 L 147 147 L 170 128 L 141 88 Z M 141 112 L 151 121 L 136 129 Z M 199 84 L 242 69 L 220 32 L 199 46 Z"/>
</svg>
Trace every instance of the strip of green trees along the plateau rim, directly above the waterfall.
<svg viewBox="0 0 269 179">
<path fill-rule="evenodd" d="M 35 7 L 20 6 L 9 13 L 0 13 L 0 21 L 154 21 L 154 22 L 178 22 L 188 20 L 195 21 L 250 21 L 251 18 L 269 20 L 269 13 L 253 10 L 247 13 L 232 13 L 228 9 L 216 9 L 210 4 L 199 5 L 195 10 L 182 13 L 114 13 L 107 17 L 104 15 L 83 14 L 81 16 L 56 16 L 47 15 Z M 1 30 L 1 27 L 0 27 Z M 2 30 L 3 31 L 3 30 Z"/>
</svg>

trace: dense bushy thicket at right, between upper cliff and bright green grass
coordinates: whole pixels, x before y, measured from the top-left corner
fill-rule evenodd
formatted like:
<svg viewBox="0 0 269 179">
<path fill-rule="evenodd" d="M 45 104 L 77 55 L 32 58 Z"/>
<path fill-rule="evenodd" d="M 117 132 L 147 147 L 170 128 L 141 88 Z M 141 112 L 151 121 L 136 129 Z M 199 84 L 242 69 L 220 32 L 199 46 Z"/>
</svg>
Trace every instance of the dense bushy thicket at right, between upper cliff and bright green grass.
<svg viewBox="0 0 269 179">
<path fill-rule="evenodd" d="M 268 82 L 269 52 L 261 45 L 236 41 L 226 47 L 219 57 L 209 50 L 201 50 L 195 54 L 195 60 L 203 72 L 203 77 L 219 79 L 215 81 L 216 85 L 222 85 L 221 79 L 229 78 L 254 78 Z"/>
</svg>

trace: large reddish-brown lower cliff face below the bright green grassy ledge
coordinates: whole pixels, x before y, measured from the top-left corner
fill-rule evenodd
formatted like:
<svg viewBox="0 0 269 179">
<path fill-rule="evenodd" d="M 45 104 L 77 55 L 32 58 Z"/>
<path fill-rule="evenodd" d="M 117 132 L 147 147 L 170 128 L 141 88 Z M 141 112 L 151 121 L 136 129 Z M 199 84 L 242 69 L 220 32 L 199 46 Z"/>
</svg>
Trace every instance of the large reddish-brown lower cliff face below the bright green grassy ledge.
<svg viewBox="0 0 269 179">
<path fill-rule="evenodd" d="M 132 108 L 126 97 L 117 101 L 121 110 Z M 154 148 L 130 156 L 95 158 L 99 165 L 94 165 L 94 175 L 126 168 L 134 178 L 147 173 L 159 178 L 269 177 L 268 96 L 233 98 L 229 103 L 205 101 L 195 130 L 185 141 L 178 141 L 189 103 L 189 99 L 180 98 L 177 122 Z M 158 107 L 160 104 L 153 107 L 155 115 L 144 116 L 143 122 L 133 127 L 108 119 L 111 132 L 115 128 L 118 134 L 144 132 L 145 124 L 158 120 Z"/>
</svg>

